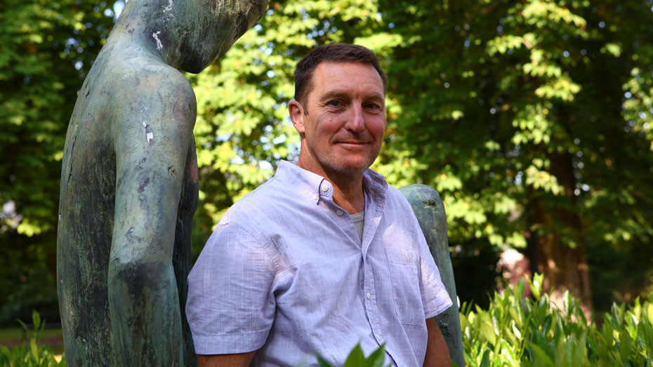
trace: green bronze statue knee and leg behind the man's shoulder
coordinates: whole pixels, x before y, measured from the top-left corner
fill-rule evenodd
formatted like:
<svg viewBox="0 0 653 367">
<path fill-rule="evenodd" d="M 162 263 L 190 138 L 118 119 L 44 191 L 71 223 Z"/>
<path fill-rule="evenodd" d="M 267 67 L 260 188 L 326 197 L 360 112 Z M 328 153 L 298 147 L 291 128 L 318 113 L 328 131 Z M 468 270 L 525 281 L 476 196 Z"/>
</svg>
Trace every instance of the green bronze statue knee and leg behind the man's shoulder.
<svg viewBox="0 0 653 367">
<path fill-rule="evenodd" d="M 437 326 L 442 331 L 442 336 L 449 347 L 449 354 L 459 366 L 465 366 L 463 356 L 463 340 L 461 335 L 461 321 L 456 298 L 456 283 L 454 282 L 454 268 L 451 266 L 449 255 L 449 239 L 447 236 L 447 214 L 444 213 L 444 203 L 434 189 L 426 185 L 409 185 L 400 189 L 410 203 L 419 227 L 421 227 L 426 243 L 435 259 L 440 278 L 447 288 L 449 297 L 454 305 L 447 311 L 435 316 Z"/>
</svg>

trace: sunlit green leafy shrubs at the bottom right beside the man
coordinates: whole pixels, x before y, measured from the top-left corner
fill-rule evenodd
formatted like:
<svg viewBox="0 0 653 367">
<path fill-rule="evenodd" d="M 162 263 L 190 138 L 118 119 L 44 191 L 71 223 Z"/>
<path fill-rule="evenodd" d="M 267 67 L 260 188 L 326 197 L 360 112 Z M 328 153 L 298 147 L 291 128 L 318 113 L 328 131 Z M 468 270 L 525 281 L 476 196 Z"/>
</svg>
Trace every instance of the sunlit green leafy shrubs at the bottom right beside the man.
<svg viewBox="0 0 653 367">
<path fill-rule="evenodd" d="M 463 305 L 468 366 L 653 366 L 653 296 L 631 307 L 615 303 L 597 326 L 569 293 L 555 307 L 542 281 L 536 274 L 494 293 L 487 310 Z M 524 297 L 526 286 L 534 299 Z"/>
</svg>

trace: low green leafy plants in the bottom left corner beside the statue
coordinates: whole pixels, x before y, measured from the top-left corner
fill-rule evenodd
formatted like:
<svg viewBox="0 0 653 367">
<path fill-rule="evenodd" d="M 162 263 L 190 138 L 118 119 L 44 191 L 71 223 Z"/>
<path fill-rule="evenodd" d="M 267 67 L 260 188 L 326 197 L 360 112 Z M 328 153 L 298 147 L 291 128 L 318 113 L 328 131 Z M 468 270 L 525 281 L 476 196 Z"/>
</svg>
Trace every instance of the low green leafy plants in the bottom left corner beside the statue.
<svg viewBox="0 0 653 367">
<path fill-rule="evenodd" d="M 0 365 L 13 367 L 51 367 L 65 366 L 65 357 L 61 361 L 55 359 L 50 347 L 41 344 L 41 334 L 44 331 L 45 321 L 41 321 L 38 312 L 32 312 L 34 330 L 29 332 L 25 323 L 22 323 L 25 333 L 29 334 L 29 342 L 22 342 L 13 349 L 0 345 Z"/>
</svg>

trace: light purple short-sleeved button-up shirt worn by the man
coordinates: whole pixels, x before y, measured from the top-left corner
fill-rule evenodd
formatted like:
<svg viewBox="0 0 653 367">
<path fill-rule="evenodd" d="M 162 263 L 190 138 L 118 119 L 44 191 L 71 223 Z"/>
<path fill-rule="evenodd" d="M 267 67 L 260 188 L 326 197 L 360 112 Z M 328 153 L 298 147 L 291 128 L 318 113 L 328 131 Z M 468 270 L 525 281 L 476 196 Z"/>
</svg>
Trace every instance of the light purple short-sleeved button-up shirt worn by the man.
<svg viewBox="0 0 653 367">
<path fill-rule="evenodd" d="M 386 363 L 423 364 L 425 319 L 451 299 L 404 196 L 371 170 L 363 185 L 362 243 L 331 184 L 286 161 L 225 213 L 188 276 L 197 354 L 341 366 L 385 343 Z"/>
</svg>

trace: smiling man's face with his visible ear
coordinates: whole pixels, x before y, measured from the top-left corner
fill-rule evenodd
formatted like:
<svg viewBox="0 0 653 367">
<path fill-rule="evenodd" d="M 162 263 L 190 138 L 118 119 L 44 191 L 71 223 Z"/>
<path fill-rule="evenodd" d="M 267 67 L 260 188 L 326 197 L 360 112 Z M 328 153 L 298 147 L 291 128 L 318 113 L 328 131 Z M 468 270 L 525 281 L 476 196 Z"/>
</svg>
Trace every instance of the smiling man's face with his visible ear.
<svg viewBox="0 0 653 367">
<path fill-rule="evenodd" d="M 376 159 L 385 130 L 383 82 L 371 65 L 322 62 L 304 102 L 289 104 L 302 135 L 298 164 L 319 175 L 359 175 Z"/>
</svg>

